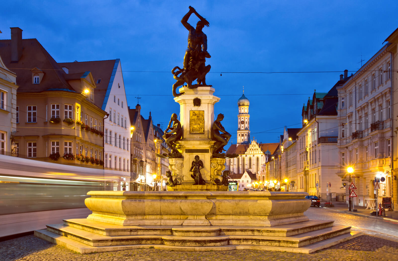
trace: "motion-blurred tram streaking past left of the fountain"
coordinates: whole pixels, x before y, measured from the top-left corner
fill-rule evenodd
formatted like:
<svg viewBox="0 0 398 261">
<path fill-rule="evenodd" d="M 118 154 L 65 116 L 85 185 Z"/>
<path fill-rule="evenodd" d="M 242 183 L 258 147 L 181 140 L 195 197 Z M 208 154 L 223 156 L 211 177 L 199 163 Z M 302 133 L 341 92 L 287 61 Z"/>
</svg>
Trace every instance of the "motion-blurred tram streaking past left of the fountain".
<svg viewBox="0 0 398 261">
<path fill-rule="evenodd" d="M 87 192 L 120 190 L 121 178 L 103 169 L 0 155 L 0 238 L 86 218 Z"/>
</svg>

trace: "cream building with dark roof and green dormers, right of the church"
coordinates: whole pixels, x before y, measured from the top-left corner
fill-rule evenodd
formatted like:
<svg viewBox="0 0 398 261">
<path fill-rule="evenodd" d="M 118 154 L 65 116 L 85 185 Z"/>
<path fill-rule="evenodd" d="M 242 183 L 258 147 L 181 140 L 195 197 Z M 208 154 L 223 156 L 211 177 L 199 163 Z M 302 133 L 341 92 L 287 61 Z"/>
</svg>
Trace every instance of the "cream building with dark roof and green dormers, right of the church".
<svg viewBox="0 0 398 261">
<path fill-rule="evenodd" d="M 297 191 L 321 196 L 325 200 L 342 200 L 337 138 L 337 88 L 351 76 L 340 75 L 327 93 L 314 91 L 302 107 L 302 128 L 297 132 Z M 326 186 L 327 184 L 327 186 Z"/>
</svg>

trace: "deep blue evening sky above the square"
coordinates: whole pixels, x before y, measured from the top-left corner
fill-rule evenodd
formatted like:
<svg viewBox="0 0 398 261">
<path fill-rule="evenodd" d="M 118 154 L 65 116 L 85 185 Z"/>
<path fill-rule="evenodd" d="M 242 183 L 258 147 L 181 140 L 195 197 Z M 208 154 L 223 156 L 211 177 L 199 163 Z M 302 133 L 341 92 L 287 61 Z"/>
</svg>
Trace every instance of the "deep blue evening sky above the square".
<svg viewBox="0 0 398 261">
<path fill-rule="evenodd" d="M 355 73 L 361 57 L 365 63 L 398 27 L 396 1 L 14 0 L 2 4 L 0 39 L 20 27 L 58 62 L 120 58 L 129 106 L 139 95 L 142 115 L 152 111 L 165 128 L 179 113 L 171 70 L 182 67 L 188 31 L 180 20 L 189 5 L 210 23 L 203 29 L 212 56 L 206 81 L 221 98 L 215 115 L 224 113 L 233 143 L 242 86 L 252 137 L 278 142 L 285 125 L 301 127 L 302 104 L 314 89 L 328 92 L 344 69 Z M 189 23 L 198 20 L 191 15 Z M 244 73 L 312 71 L 335 72 Z"/>
</svg>

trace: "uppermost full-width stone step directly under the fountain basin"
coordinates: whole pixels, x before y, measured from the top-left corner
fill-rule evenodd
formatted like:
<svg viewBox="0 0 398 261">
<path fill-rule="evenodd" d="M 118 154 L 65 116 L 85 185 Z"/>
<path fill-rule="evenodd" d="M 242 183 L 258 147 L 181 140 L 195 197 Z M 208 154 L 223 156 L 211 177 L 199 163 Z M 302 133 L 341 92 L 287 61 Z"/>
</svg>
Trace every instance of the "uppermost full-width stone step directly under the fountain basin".
<svg viewBox="0 0 398 261">
<path fill-rule="evenodd" d="M 302 221 L 279 226 L 121 226 L 88 219 L 65 219 L 64 225 L 72 226 L 104 236 L 121 235 L 174 235 L 174 236 L 217 236 L 256 235 L 292 236 L 333 226 L 333 221 Z"/>
</svg>

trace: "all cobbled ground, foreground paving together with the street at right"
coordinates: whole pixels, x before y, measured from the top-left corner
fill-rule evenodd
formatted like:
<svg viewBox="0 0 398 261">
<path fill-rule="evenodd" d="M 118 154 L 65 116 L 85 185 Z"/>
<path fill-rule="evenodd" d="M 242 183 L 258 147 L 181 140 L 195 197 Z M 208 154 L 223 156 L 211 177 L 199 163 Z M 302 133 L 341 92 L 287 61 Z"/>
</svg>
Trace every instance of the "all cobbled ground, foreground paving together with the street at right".
<svg viewBox="0 0 398 261">
<path fill-rule="evenodd" d="M 359 217 L 339 213 L 330 209 L 310 207 L 305 214 L 310 219 L 335 220 L 339 225 L 350 225 L 367 235 L 354 238 L 331 248 L 312 254 L 287 253 L 276 251 L 234 250 L 214 252 L 174 252 L 159 249 L 133 249 L 117 252 L 92 253 L 81 255 L 62 246 L 56 246 L 33 235 L 0 242 L 0 257 L 4 261 L 37 260 L 364 260 L 382 255 L 383 260 L 397 260 L 398 224 L 393 221 Z M 374 236 L 369 236 L 374 235 Z"/>
</svg>

